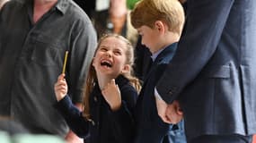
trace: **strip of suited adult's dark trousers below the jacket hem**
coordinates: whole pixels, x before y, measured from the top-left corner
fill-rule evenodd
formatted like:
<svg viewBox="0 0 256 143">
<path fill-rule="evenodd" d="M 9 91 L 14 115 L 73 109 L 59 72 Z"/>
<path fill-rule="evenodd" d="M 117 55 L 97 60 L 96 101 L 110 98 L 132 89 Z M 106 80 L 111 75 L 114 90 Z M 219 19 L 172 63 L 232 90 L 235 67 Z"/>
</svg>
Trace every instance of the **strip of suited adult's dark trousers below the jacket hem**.
<svg viewBox="0 0 256 143">
<path fill-rule="evenodd" d="M 241 135 L 204 135 L 191 139 L 188 143 L 252 143 L 252 136 Z"/>
</svg>

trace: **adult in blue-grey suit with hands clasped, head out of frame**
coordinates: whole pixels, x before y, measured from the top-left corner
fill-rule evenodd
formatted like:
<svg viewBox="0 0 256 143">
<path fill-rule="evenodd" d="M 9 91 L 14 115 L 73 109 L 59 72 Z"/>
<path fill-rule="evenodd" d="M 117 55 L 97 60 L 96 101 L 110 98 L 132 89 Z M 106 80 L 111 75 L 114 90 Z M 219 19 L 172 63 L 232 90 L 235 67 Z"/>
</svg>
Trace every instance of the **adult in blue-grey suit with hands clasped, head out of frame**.
<svg viewBox="0 0 256 143">
<path fill-rule="evenodd" d="M 183 110 L 188 142 L 252 142 L 256 132 L 256 1 L 188 0 L 186 31 L 156 86 L 158 114 Z M 157 97 L 160 95 L 160 97 Z"/>
</svg>

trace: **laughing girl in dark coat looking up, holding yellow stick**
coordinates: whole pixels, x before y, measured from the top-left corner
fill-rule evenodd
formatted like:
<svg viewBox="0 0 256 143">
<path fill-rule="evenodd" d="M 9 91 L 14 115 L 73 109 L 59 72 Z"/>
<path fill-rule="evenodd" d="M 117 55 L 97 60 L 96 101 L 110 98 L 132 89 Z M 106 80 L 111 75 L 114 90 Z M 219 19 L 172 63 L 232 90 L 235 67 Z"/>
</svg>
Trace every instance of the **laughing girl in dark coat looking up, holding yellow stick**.
<svg viewBox="0 0 256 143">
<path fill-rule="evenodd" d="M 85 83 L 83 112 L 66 95 L 65 75 L 59 75 L 55 84 L 57 110 L 84 142 L 132 141 L 132 110 L 140 89 L 139 81 L 131 75 L 133 60 L 133 47 L 126 38 L 111 34 L 100 39 Z"/>
</svg>

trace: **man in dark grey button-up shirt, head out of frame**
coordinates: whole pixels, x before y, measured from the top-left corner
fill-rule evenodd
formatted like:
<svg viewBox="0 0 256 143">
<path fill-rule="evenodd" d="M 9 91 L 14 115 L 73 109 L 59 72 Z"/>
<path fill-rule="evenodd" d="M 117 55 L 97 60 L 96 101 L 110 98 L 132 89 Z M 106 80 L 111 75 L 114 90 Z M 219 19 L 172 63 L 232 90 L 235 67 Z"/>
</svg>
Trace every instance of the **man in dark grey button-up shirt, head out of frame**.
<svg viewBox="0 0 256 143">
<path fill-rule="evenodd" d="M 53 108 L 54 83 L 66 63 L 69 96 L 79 107 L 97 38 L 72 0 L 11 0 L 0 11 L 0 114 L 31 133 L 83 142 Z"/>
</svg>

